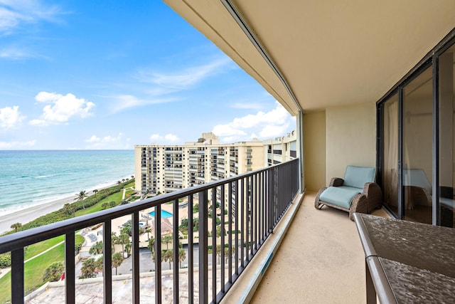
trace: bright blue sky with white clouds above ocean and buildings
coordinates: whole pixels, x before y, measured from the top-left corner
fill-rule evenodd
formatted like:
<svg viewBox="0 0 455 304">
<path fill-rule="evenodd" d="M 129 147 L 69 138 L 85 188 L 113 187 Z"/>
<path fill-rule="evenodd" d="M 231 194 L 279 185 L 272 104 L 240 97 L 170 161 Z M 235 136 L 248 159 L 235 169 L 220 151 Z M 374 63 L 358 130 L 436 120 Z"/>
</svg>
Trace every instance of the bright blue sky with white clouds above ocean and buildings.
<svg viewBox="0 0 455 304">
<path fill-rule="evenodd" d="M 133 149 L 295 129 L 161 1 L 0 0 L 0 150 Z"/>
</svg>

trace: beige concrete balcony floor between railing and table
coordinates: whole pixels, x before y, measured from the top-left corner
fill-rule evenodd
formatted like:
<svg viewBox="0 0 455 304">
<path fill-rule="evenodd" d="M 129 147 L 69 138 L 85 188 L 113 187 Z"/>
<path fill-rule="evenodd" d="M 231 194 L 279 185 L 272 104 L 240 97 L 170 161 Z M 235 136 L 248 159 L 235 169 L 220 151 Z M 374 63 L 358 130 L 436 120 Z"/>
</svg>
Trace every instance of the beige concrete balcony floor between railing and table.
<svg viewBox="0 0 455 304">
<path fill-rule="evenodd" d="M 365 255 L 355 223 L 347 212 L 315 209 L 315 196 L 305 194 L 251 303 L 366 303 Z M 387 216 L 382 209 L 373 214 Z M 248 285 L 242 276 L 226 302 L 242 298 Z"/>
</svg>

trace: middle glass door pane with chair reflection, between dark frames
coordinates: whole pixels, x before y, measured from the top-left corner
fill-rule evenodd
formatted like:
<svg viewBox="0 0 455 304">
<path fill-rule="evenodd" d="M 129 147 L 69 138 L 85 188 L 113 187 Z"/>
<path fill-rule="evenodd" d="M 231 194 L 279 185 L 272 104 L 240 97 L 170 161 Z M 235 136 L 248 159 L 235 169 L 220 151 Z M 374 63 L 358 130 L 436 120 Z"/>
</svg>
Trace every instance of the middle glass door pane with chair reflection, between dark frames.
<svg viewBox="0 0 455 304">
<path fill-rule="evenodd" d="M 432 224 L 432 67 L 403 88 L 403 169 L 405 219 Z"/>
</svg>

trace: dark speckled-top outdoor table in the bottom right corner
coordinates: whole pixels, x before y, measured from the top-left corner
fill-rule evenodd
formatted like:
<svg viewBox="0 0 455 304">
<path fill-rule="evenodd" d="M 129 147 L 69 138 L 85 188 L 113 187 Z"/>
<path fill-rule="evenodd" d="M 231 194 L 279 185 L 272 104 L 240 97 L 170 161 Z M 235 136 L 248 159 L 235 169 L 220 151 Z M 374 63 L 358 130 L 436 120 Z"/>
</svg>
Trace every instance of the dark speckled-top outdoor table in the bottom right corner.
<svg viewBox="0 0 455 304">
<path fill-rule="evenodd" d="M 367 303 L 455 303 L 455 229 L 354 214 Z"/>
</svg>

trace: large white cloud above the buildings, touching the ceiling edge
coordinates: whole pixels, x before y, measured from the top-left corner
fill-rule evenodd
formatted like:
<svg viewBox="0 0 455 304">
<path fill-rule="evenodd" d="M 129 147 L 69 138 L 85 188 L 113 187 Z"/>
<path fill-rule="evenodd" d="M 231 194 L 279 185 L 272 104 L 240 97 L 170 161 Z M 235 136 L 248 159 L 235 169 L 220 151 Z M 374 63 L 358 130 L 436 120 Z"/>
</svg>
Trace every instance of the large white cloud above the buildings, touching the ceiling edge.
<svg viewBox="0 0 455 304">
<path fill-rule="evenodd" d="M 241 140 L 252 140 L 257 137 L 267 139 L 284 135 L 291 122 L 295 121 L 289 112 L 282 105 L 269 112 L 259 111 L 255 115 L 246 115 L 234 118 L 232 122 L 222 125 L 215 125 L 212 132 L 223 137 L 223 142 L 236 142 Z"/>
</svg>

